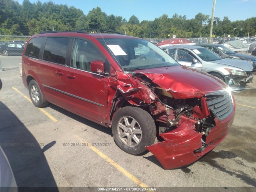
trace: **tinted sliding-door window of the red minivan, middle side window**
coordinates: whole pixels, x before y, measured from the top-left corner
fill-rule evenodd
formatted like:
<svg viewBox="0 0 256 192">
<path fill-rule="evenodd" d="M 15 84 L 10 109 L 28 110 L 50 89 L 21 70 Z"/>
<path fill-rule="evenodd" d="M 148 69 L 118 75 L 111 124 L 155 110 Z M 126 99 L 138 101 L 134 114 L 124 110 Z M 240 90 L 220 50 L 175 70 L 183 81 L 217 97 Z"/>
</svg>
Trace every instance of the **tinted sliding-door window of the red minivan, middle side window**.
<svg viewBox="0 0 256 192">
<path fill-rule="evenodd" d="M 65 65 L 69 39 L 48 37 L 44 46 L 43 60 Z"/>
</svg>

